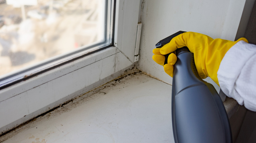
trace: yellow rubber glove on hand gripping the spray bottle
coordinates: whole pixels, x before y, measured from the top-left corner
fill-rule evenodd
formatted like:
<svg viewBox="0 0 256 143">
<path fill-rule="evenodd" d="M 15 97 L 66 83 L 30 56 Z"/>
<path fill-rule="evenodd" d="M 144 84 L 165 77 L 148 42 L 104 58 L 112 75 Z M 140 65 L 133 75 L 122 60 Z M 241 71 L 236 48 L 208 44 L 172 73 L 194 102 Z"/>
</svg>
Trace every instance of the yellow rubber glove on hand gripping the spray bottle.
<svg viewBox="0 0 256 143">
<path fill-rule="evenodd" d="M 185 32 L 174 37 L 169 43 L 162 48 L 153 49 L 153 60 L 162 65 L 164 71 L 173 77 L 173 65 L 177 61 L 177 56 L 174 52 L 177 48 L 187 46 L 190 52 L 194 53 L 195 65 L 199 76 L 204 79 L 209 76 L 215 83 L 219 85 L 217 78 L 217 71 L 226 52 L 238 41 L 244 40 L 240 38 L 236 41 L 229 41 L 223 39 L 212 39 L 207 35 L 195 32 Z M 165 57 L 163 55 L 169 54 L 168 62 L 164 65 Z"/>
</svg>

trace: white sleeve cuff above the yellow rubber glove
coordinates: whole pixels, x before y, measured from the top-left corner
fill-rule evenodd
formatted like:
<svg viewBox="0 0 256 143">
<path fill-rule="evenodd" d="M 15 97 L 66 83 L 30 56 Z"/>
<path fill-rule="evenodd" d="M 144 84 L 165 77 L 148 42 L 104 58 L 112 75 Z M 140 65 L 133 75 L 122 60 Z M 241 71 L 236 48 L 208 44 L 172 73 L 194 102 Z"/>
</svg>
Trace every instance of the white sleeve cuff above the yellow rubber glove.
<svg viewBox="0 0 256 143">
<path fill-rule="evenodd" d="M 237 42 L 225 54 L 217 74 L 228 97 L 256 111 L 256 45 Z"/>
</svg>

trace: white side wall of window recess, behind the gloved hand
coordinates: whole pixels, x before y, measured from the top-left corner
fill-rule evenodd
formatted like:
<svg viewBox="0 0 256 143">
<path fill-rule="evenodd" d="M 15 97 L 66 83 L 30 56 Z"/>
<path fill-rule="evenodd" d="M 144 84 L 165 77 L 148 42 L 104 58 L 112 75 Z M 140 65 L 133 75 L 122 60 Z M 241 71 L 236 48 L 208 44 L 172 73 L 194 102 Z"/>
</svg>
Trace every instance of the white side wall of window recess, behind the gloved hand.
<svg viewBox="0 0 256 143">
<path fill-rule="evenodd" d="M 235 40 L 246 0 L 141 0 L 142 23 L 138 68 L 172 84 L 163 67 L 152 60 L 155 44 L 178 31 Z"/>
</svg>

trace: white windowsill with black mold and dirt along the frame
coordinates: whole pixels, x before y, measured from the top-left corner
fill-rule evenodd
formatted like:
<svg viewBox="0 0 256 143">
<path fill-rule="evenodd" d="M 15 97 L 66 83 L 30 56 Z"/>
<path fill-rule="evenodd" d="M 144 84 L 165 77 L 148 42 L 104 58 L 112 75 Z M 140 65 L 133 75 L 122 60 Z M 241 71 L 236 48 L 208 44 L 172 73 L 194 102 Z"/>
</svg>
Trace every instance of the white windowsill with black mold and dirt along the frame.
<svg viewBox="0 0 256 143">
<path fill-rule="evenodd" d="M 9 142 L 174 142 L 172 86 L 129 70 L 2 136 Z M 237 102 L 224 102 L 230 117 Z"/>
</svg>

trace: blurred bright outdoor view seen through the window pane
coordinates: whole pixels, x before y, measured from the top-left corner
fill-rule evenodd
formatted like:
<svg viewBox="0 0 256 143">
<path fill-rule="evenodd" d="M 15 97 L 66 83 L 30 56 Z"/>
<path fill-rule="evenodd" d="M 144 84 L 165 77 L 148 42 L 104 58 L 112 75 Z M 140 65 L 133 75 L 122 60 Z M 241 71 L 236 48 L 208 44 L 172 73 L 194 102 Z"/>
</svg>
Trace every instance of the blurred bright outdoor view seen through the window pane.
<svg viewBox="0 0 256 143">
<path fill-rule="evenodd" d="M 104 39 L 104 0 L 0 0 L 0 76 Z"/>
</svg>

